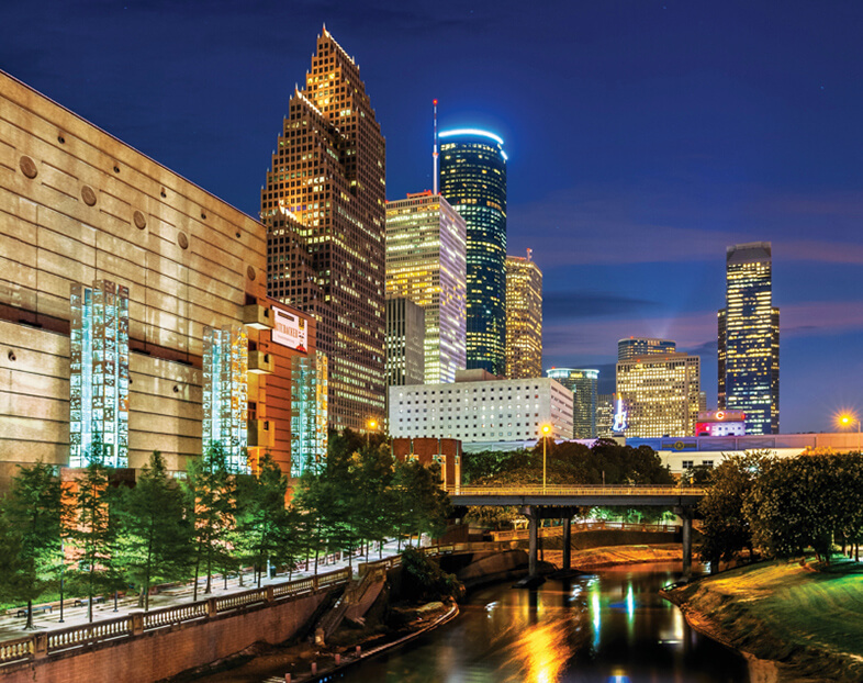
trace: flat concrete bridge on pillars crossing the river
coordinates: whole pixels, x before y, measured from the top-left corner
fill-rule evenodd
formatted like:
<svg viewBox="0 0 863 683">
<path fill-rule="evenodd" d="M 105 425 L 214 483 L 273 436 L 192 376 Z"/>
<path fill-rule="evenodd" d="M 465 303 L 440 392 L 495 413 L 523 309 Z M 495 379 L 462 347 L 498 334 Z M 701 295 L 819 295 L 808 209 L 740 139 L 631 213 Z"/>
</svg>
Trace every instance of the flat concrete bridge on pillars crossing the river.
<svg viewBox="0 0 863 683">
<path fill-rule="evenodd" d="M 540 519 L 563 526 L 563 569 L 571 566 L 571 523 L 578 507 L 668 507 L 683 520 L 683 575 L 692 575 L 692 519 L 704 489 L 690 486 L 455 486 L 447 490 L 453 506 L 516 506 L 528 519 L 530 575 L 537 573 Z"/>
</svg>

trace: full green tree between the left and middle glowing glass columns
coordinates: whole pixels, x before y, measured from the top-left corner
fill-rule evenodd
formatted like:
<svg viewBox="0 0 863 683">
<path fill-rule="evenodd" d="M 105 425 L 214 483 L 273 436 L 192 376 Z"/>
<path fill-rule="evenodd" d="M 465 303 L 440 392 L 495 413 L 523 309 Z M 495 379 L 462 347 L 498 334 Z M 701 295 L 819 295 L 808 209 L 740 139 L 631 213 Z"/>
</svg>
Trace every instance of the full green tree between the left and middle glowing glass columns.
<svg viewBox="0 0 863 683">
<path fill-rule="evenodd" d="M 182 491 L 159 451 L 153 451 L 135 488 L 122 492 L 117 507 L 119 561 L 139 586 L 138 607 L 148 611 L 154 579 L 186 575 L 191 541 Z"/>
</svg>

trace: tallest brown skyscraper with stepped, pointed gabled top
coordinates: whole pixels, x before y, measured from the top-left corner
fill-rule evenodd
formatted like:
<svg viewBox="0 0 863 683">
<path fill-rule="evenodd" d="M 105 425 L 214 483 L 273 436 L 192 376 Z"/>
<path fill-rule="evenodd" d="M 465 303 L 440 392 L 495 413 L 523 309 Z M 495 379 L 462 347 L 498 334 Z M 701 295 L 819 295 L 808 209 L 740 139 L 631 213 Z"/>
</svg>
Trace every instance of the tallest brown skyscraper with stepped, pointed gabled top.
<svg viewBox="0 0 863 683">
<path fill-rule="evenodd" d="M 384 139 L 326 29 L 289 112 L 261 191 L 268 289 L 317 320 L 329 425 L 365 429 L 384 412 Z"/>
</svg>

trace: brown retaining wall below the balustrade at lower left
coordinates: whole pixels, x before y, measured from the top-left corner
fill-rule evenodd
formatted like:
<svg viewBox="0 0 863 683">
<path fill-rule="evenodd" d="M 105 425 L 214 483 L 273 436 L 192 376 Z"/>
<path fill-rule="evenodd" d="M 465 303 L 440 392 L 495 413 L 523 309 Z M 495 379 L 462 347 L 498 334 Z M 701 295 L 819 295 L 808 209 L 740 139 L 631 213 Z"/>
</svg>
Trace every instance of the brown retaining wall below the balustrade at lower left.
<svg viewBox="0 0 863 683">
<path fill-rule="evenodd" d="M 327 593 L 250 608 L 204 623 L 148 631 L 91 650 L 74 650 L 3 669 L 3 683 L 152 683 L 223 659 L 258 641 L 279 643 L 298 632 Z"/>
</svg>

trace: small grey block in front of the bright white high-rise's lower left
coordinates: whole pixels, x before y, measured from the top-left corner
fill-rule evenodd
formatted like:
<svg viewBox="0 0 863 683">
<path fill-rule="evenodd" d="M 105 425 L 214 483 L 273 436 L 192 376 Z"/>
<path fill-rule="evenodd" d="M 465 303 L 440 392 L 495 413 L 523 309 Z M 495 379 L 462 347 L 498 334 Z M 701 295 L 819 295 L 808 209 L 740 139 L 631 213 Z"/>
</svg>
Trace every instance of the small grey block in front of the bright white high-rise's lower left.
<svg viewBox="0 0 863 683">
<path fill-rule="evenodd" d="M 386 385 L 422 384 L 426 312 L 404 296 L 386 298 Z M 453 377 L 455 379 L 455 377 Z"/>
</svg>

